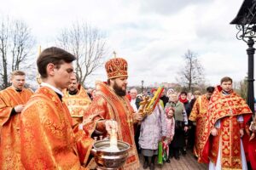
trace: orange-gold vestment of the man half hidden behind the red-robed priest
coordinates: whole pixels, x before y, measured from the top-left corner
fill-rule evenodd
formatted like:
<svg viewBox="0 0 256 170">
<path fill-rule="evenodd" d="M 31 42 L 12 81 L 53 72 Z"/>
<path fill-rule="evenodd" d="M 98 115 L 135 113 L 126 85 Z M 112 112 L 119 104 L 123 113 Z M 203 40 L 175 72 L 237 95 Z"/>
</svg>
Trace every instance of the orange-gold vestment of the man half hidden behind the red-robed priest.
<svg viewBox="0 0 256 170">
<path fill-rule="evenodd" d="M 199 96 L 195 100 L 195 104 L 190 113 L 189 120 L 196 122 L 195 128 L 195 145 L 193 152 L 198 159 L 201 159 L 201 150 L 203 149 L 203 132 L 205 129 L 205 124 L 207 122 L 207 109 L 208 109 L 209 100 L 207 99 L 207 94 Z"/>
</svg>

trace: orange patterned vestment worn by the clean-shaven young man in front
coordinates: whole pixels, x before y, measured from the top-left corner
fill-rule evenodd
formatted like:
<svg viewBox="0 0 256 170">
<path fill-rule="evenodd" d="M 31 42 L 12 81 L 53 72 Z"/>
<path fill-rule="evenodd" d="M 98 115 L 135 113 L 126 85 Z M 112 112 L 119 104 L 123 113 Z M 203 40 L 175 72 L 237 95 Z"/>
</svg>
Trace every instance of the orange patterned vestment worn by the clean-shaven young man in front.
<svg viewBox="0 0 256 170">
<path fill-rule="evenodd" d="M 20 157 L 26 169 L 80 169 L 67 105 L 54 90 L 38 88 L 21 112 Z"/>
</svg>

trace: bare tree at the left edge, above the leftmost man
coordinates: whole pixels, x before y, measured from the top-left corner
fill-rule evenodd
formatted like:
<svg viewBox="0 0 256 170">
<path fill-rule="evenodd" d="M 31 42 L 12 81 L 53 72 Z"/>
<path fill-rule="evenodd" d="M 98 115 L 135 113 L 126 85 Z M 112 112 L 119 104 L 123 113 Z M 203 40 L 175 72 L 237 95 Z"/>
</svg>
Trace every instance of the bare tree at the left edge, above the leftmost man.
<svg viewBox="0 0 256 170">
<path fill-rule="evenodd" d="M 0 23 L 0 86 L 7 88 L 9 72 L 29 67 L 27 61 L 35 39 L 22 20 L 10 20 L 6 17 Z"/>
</svg>

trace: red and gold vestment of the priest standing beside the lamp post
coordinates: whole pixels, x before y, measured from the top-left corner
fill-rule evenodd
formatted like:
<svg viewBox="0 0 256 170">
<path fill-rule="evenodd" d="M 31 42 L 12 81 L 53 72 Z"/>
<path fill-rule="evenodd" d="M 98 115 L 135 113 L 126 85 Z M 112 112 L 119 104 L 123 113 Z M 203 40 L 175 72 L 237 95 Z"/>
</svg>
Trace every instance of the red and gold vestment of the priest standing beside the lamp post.
<svg viewBox="0 0 256 170">
<path fill-rule="evenodd" d="M 216 164 L 218 150 L 221 155 L 222 169 L 241 169 L 241 138 L 240 129 L 252 115 L 246 101 L 231 91 L 224 95 L 220 87 L 215 88 L 209 102 L 206 128 L 203 132 L 204 149 L 200 161 L 209 159 Z M 243 116 L 243 122 L 237 121 L 237 116 Z M 212 136 L 211 130 L 220 121 L 218 135 Z M 244 146 L 247 148 L 247 146 Z"/>
</svg>

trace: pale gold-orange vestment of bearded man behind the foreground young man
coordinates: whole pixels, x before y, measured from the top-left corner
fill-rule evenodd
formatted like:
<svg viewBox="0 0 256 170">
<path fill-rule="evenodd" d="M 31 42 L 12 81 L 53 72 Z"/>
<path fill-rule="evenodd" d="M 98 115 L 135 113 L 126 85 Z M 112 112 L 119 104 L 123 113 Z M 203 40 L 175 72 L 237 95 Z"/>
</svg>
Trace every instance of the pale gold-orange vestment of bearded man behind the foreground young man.
<svg viewBox="0 0 256 170">
<path fill-rule="evenodd" d="M 67 105 L 70 115 L 73 119 L 73 125 L 83 122 L 84 111 L 91 103 L 90 97 L 82 86 L 79 86 L 79 92 L 71 95 L 67 90 L 64 91 L 63 101 Z"/>
</svg>

